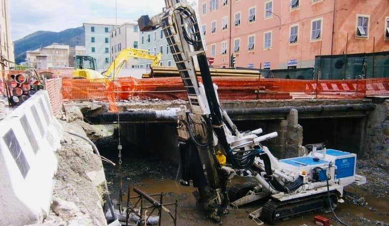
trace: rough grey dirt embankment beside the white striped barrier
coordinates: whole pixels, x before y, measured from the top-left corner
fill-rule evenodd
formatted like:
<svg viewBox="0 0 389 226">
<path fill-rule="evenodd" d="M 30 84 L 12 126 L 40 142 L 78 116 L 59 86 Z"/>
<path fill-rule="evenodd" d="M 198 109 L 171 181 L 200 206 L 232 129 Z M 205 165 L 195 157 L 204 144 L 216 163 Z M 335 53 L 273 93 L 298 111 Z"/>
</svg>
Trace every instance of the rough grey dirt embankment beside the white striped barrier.
<svg viewBox="0 0 389 226">
<path fill-rule="evenodd" d="M 107 225 L 102 208 L 106 191 L 101 160 L 91 145 L 66 132 L 96 139 L 106 131 L 82 121 L 82 114 L 72 113 L 60 122 L 64 133 L 61 147 L 56 151 L 58 170 L 50 214 L 34 225 Z"/>
</svg>

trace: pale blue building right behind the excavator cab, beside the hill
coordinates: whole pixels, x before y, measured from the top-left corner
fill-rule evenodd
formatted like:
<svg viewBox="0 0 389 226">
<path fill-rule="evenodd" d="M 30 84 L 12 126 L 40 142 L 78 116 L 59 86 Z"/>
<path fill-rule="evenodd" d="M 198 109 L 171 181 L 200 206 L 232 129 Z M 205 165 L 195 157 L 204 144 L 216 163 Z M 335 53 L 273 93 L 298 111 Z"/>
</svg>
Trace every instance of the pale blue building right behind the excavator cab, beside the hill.
<svg viewBox="0 0 389 226">
<path fill-rule="evenodd" d="M 110 32 L 113 30 L 114 23 L 91 22 L 84 23 L 85 30 L 85 50 L 97 60 L 97 69 L 106 70 L 110 65 Z"/>
</svg>

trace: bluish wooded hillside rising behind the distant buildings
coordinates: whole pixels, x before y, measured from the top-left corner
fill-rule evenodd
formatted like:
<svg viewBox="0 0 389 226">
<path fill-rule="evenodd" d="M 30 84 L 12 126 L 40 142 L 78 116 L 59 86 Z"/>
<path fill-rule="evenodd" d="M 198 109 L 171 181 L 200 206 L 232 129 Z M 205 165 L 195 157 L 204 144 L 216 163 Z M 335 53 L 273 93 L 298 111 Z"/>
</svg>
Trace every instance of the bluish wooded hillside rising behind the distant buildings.
<svg viewBox="0 0 389 226">
<path fill-rule="evenodd" d="M 26 58 L 26 51 L 49 46 L 52 43 L 67 44 L 70 47 L 84 46 L 85 35 L 83 27 L 69 28 L 60 32 L 36 31 L 15 42 L 15 61 L 17 64 Z"/>
</svg>

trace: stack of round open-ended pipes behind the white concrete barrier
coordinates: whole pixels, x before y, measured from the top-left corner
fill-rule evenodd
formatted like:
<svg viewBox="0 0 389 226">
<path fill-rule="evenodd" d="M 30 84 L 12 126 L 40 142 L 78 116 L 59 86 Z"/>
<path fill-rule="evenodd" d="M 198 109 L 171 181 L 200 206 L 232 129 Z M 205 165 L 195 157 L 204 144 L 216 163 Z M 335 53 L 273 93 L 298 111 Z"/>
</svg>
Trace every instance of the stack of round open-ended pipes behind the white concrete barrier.
<svg viewBox="0 0 389 226">
<path fill-rule="evenodd" d="M 8 100 L 12 106 L 19 105 L 35 94 L 40 82 L 26 74 L 12 74 L 7 80 Z"/>
</svg>

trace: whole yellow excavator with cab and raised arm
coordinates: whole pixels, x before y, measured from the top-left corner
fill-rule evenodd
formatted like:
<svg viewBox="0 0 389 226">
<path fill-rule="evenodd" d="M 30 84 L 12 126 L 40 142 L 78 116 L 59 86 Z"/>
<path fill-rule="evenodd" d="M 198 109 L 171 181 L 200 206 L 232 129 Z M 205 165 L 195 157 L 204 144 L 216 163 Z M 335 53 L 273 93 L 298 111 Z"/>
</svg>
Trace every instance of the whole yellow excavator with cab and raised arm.
<svg viewBox="0 0 389 226">
<path fill-rule="evenodd" d="M 124 49 L 118 57 L 109 65 L 108 69 L 101 74 L 97 71 L 96 59 L 89 55 L 75 55 L 74 56 L 74 71 L 73 78 L 113 78 L 117 77 L 123 66 L 130 58 L 140 58 L 151 60 L 151 67 L 159 66 L 162 54 L 150 54 L 147 50 L 140 49 Z"/>
</svg>

